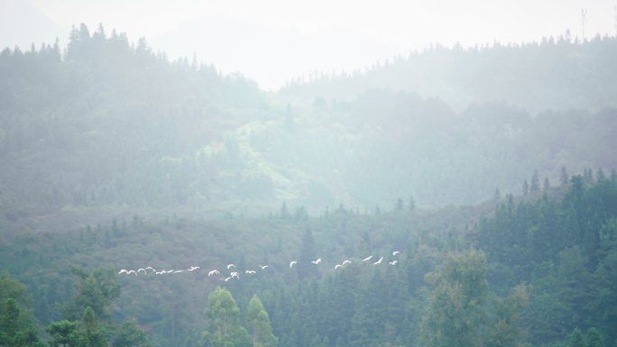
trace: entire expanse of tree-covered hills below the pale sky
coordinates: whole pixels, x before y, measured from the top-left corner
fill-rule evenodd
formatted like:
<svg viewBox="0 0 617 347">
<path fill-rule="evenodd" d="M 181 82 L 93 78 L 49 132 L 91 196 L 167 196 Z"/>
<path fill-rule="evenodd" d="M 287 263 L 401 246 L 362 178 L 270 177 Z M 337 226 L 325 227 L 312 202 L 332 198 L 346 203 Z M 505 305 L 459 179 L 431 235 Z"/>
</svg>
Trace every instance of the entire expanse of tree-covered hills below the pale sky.
<svg viewBox="0 0 617 347">
<path fill-rule="evenodd" d="M 616 54 L 265 93 L 103 26 L 5 49 L 0 347 L 617 346 Z"/>
</svg>

